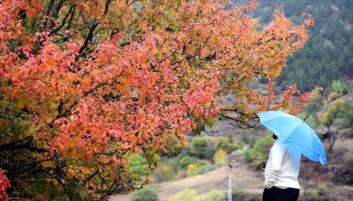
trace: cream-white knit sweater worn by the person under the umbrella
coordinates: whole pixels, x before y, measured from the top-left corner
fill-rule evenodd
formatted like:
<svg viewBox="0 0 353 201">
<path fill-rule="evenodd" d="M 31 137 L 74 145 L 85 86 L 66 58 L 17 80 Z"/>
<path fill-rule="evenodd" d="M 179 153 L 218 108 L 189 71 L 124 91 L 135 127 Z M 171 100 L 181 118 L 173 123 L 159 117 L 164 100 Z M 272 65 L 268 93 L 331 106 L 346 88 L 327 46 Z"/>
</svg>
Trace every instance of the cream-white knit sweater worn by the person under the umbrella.
<svg viewBox="0 0 353 201">
<path fill-rule="evenodd" d="M 273 144 L 265 168 L 265 188 L 300 189 L 298 175 L 301 153 L 279 139 Z"/>
</svg>

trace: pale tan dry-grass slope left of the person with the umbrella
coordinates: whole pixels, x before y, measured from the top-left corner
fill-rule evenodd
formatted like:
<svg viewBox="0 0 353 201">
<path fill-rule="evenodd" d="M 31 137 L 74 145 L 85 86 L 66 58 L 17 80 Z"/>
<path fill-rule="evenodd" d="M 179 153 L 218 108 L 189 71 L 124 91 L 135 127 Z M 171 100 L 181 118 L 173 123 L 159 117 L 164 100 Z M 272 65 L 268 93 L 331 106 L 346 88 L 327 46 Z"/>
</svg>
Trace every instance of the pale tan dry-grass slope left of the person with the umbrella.
<svg viewBox="0 0 353 201">
<path fill-rule="evenodd" d="M 249 171 L 246 166 L 233 167 L 232 183 L 233 185 L 243 186 L 244 189 L 261 194 L 263 191 L 262 171 Z M 185 188 L 195 189 L 198 194 L 208 192 L 212 189 L 221 190 L 224 193 L 228 191 L 228 167 L 187 177 L 174 182 L 164 182 L 150 184 L 151 188 L 158 191 L 159 201 L 167 201 L 168 198 Z M 116 195 L 111 201 L 129 201 L 128 195 Z"/>
</svg>

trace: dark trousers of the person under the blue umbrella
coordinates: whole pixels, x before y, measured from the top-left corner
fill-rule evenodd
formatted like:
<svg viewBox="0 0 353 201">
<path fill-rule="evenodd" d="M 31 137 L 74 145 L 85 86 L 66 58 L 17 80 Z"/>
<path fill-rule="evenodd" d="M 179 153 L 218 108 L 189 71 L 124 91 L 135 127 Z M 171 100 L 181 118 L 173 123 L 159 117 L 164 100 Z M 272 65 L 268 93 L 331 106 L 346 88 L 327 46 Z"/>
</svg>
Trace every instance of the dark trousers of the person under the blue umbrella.
<svg viewBox="0 0 353 201">
<path fill-rule="evenodd" d="M 286 188 L 281 189 L 275 186 L 265 188 L 262 194 L 263 201 L 297 201 L 299 198 L 299 189 Z"/>
</svg>

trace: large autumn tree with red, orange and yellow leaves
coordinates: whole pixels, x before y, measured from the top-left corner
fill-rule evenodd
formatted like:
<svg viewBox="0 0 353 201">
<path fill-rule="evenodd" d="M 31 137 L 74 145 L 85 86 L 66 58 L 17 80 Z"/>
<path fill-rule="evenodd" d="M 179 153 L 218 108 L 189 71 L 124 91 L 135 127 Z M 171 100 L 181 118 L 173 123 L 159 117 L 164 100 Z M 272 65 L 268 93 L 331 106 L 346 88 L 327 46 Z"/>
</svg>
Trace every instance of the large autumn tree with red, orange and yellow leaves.
<svg viewBox="0 0 353 201">
<path fill-rule="evenodd" d="M 151 182 L 153 168 L 216 119 L 253 127 L 256 112 L 298 113 L 312 93 L 273 79 L 308 40 L 309 17 L 281 8 L 257 31 L 257 5 L 221 1 L 0 2 L 0 195 L 101 200 Z M 248 84 L 267 79 L 266 94 Z M 234 103 L 224 105 L 222 94 Z M 295 96 L 295 102 L 294 100 Z M 230 114 L 233 113 L 233 114 Z M 5 191 L 6 189 L 6 191 Z"/>
</svg>

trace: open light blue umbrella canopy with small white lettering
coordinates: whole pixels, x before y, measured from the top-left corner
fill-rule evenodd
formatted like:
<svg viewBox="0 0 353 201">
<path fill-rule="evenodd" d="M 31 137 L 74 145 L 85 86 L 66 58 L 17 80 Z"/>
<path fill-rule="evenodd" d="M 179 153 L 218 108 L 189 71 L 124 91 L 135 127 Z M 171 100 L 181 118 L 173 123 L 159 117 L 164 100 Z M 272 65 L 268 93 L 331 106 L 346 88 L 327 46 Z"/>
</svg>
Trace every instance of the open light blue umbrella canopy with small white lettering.
<svg viewBox="0 0 353 201">
<path fill-rule="evenodd" d="M 260 124 L 273 132 L 282 143 L 297 148 L 312 161 L 327 165 L 320 139 L 304 120 L 281 111 L 265 111 L 257 115 Z"/>
</svg>

